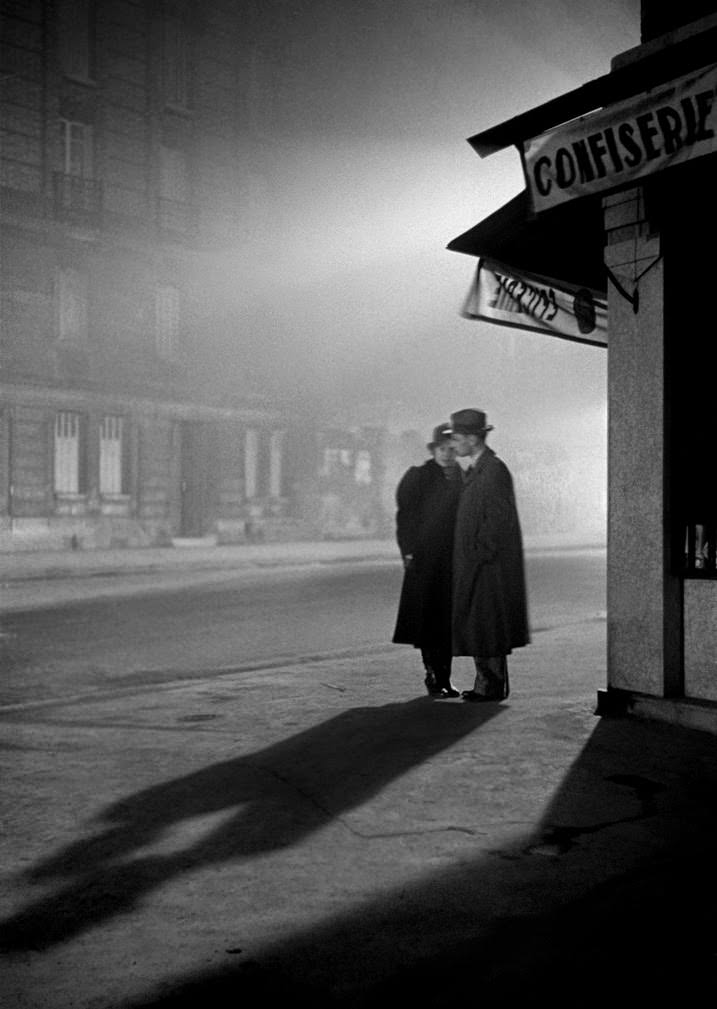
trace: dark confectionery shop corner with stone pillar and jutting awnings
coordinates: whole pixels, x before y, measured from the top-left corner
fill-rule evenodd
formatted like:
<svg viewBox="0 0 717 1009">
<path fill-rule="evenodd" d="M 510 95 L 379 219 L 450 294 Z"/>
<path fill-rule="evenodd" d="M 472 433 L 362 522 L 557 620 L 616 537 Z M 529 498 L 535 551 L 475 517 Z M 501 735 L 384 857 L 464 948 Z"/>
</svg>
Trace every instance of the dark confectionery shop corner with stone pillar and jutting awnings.
<svg viewBox="0 0 717 1009">
<path fill-rule="evenodd" d="M 606 294 L 608 655 L 598 710 L 711 731 L 716 43 L 713 3 L 643 0 L 641 43 L 609 74 L 471 138 L 482 155 L 517 145 L 531 213 L 518 219 L 513 201 L 454 244 L 566 291 Z"/>
</svg>

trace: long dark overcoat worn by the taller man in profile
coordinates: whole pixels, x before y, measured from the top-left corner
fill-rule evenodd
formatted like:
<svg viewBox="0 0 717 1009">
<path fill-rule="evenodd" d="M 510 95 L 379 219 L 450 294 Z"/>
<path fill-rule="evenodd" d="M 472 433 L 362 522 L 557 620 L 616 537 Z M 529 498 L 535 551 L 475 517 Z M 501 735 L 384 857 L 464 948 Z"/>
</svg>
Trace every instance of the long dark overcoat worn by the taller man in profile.
<svg viewBox="0 0 717 1009">
<path fill-rule="evenodd" d="M 510 472 L 485 448 L 464 476 L 453 552 L 453 654 L 509 655 L 530 640 Z"/>
</svg>

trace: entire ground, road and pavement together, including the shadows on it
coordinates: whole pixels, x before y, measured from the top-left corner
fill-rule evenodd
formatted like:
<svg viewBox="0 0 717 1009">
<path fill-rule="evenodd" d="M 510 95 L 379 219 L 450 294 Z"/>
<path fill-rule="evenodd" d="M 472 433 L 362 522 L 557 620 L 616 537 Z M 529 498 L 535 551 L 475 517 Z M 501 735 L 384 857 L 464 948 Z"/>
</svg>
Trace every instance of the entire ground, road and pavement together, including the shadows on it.
<svg viewBox="0 0 717 1009">
<path fill-rule="evenodd" d="M 527 574 L 485 705 L 390 644 L 394 560 L 13 586 L 3 1009 L 700 1004 L 714 738 L 595 716 L 604 552 Z"/>
</svg>

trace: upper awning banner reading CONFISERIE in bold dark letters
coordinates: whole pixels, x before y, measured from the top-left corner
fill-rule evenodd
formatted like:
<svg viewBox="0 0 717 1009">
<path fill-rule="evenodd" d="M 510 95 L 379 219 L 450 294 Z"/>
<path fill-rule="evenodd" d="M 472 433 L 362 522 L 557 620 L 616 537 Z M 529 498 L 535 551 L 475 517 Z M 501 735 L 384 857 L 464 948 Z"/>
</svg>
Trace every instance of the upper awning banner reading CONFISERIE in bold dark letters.
<svg viewBox="0 0 717 1009">
<path fill-rule="evenodd" d="M 717 66 L 522 144 L 534 211 L 717 150 Z"/>
</svg>

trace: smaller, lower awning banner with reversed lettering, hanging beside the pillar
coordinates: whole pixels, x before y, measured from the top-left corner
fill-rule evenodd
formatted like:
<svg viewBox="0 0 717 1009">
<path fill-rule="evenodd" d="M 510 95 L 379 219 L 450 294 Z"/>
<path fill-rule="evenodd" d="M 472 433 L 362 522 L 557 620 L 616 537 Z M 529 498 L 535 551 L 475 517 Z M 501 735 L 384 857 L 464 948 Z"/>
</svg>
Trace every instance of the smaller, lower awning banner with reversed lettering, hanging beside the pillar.
<svg viewBox="0 0 717 1009">
<path fill-rule="evenodd" d="M 589 288 L 556 284 L 481 259 L 463 313 L 499 326 L 607 346 L 607 303 Z"/>
</svg>

